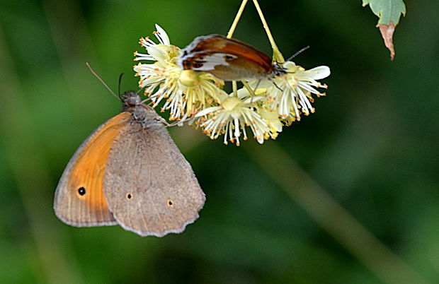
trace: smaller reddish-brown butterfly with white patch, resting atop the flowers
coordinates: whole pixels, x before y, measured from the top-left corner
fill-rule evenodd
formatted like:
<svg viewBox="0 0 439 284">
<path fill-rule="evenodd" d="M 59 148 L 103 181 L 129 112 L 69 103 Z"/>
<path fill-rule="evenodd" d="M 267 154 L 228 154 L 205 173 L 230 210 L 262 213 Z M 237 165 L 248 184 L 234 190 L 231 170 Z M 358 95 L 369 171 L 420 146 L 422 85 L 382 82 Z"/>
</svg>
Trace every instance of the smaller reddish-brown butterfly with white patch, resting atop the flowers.
<svg viewBox="0 0 439 284">
<path fill-rule="evenodd" d="M 205 71 L 224 81 L 262 79 L 286 73 L 280 64 L 245 42 L 224 35 L 195 37 L 178 56 L 181 69 Z"/>
</svg>

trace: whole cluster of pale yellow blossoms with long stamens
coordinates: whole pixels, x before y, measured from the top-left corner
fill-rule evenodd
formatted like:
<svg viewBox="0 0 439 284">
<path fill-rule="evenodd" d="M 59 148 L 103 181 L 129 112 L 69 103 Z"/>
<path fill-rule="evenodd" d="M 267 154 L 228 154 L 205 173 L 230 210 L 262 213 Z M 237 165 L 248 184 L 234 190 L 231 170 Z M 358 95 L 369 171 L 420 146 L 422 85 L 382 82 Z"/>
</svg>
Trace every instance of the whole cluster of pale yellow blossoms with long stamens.
<svg viewBox="0 0 439 284">
<path fill-rule="evenodd" d="M 152 61 L 134 66 L 139 88 L 144 88 L 153 107 L 161 101 L 161 111 L 169 110 L 169 119 L 203 129 L 212 139 L 224 135 L 224 143 L 246 140 L 250 129 L 259 143 L 276 138 L 283 126 L 314 112 L 314 98 L 327 88 L 317 80 L 329 76 L 329 67 L 305 70 L 292 61 L 282 64 L 285 73 L 272 78 L 251 80 L 236 92 L 224 92 L 224 82 L 203 71 L 181 70 L 177 65 L 180 49 L 171 45 L 166 32 L 156 25 L 159 43 L 149 37 L 140 39 L 147 54 L 135 52 L 135 61 Z"/>
</svg>

